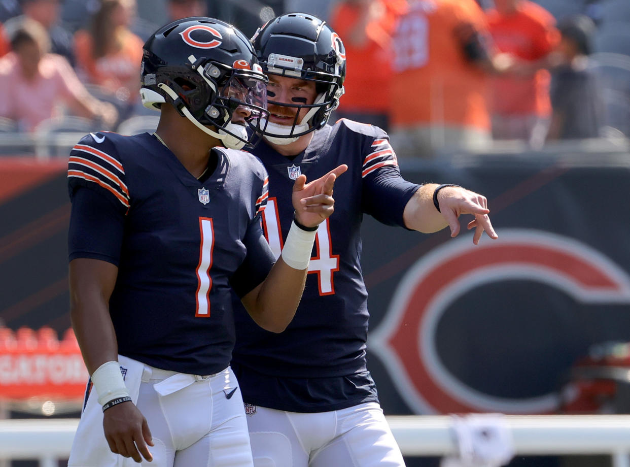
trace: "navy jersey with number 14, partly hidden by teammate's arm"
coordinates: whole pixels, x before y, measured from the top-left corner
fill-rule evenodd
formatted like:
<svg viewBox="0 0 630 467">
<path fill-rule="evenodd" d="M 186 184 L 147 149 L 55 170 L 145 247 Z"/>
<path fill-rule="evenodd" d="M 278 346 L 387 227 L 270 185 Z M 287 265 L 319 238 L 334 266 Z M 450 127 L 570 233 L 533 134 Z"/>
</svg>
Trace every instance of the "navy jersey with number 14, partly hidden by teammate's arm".
<svg viewBox="0 0 630 467">
<path fill-rule="evenodd" d="M 315 180 L 340 164 L 347 164 L 348 171 L 335 182 L 335 212 L 319 225 L 306 288 L 287 330 L 265 332 L 242 307 L 236 310 L 232 368 L 243 400 L 291 412 L 324 412 L 376 400 L 365 364 L 369 315 L 360 225 L 367 213 L 404 226 L 404 207 L 419 185 L 400 175 L 385 132 L 351 120 L 317 130 L 295 158 L 278 154 L 264 141 L 252 152 L 270 177 L 263 227 L 276 256 L 292 221 L 294 179 L 302 173 L 307 181 Z"/>
</svg>

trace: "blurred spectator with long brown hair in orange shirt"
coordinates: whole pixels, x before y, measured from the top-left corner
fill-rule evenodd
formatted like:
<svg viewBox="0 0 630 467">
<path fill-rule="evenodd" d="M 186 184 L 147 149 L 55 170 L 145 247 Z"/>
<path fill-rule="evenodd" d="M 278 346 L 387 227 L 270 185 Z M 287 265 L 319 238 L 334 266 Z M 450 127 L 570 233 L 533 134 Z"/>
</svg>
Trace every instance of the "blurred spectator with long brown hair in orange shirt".
<svg viewBox="0 0 630 467">
<path fill-rule="evenodd" d="M 126 118 L 139 101 L 142 39 L 129 25 L 135 15 L 135 0 L 103 0 L 89 30 L 74 36 L 79 76 L 98 84 Z"/>
</svg>

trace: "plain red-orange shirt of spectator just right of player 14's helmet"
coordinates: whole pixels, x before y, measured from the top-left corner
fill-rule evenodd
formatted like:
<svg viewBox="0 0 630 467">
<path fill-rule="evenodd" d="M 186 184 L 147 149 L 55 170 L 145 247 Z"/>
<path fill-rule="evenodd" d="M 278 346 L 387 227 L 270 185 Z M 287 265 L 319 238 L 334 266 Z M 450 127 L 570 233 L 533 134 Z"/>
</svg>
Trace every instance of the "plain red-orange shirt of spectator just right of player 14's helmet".
<svg viewBox="0 0 630 467">
<path fill-rule="evenodd" d="M 391 35 L 396 16 L 404 11 L 404 0 L 379 0 L 382 16 L 369 21 L 362 44 L 350 40 L 350 32 L 357 23 L 362 6 L 339 3 L 331 15 L 331 26 L 343 40 L 346 49 L 345 94 L 340 110 L 386 113 L 389 111 L 389 82 L 391 79 Z"/>
</svg>

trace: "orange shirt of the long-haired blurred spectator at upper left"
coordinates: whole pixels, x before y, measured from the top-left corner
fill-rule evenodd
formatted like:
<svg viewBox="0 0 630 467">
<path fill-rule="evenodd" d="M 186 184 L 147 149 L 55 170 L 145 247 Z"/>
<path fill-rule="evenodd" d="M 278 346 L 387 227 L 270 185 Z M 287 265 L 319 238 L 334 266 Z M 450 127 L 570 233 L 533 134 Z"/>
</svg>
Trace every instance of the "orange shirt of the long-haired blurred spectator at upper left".
<svg viewBox="0 0 630 467">
<path fill-rule="evenodd" d="M 99 84 L 113 93 L 119 88 L 128 88 L 130 100 L 136 100 L 140 89 L 142 39 L 128 32 L 121 50 L 98 59 L 94 58 L 92 41 L 91 34 L 85 30 L 75 33 L 77 66 L 87 74 L 90 83 Z"/>
</svg>

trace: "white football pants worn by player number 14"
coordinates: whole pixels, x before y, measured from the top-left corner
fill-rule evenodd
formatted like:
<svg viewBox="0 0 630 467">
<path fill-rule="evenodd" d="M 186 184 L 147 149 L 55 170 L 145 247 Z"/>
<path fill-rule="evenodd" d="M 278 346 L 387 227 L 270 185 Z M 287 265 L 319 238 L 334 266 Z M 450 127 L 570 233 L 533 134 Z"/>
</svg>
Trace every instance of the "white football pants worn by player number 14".
<svg viewBox="0 0 630 467">
<path fill-rule="evenodd" d="M 247 412 L 255 467 L 404 467 L 375 402 L 332 412 L 260 406 L 248 406 Z"/>
</svg>

